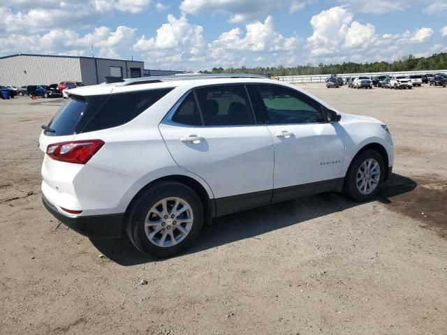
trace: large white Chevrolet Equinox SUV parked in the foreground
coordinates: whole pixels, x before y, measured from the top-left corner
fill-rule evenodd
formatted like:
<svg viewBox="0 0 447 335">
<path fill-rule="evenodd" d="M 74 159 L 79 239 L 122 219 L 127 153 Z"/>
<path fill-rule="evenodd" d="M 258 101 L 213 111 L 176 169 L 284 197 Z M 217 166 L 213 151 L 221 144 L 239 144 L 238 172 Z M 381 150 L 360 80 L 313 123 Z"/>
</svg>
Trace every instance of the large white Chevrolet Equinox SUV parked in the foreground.
<svg viewBox="0 0 447 335">
<path fill-rule="evenodd" d="M 256 75 L 175 75 L 76 88 L 39 145 L 45 207 L 89 237 L 182 251 L 204 222 L 302 195 L 374 198 L 386 124 Z M 241 223 L 243 224 L 243 223 Z"/>
</svg>

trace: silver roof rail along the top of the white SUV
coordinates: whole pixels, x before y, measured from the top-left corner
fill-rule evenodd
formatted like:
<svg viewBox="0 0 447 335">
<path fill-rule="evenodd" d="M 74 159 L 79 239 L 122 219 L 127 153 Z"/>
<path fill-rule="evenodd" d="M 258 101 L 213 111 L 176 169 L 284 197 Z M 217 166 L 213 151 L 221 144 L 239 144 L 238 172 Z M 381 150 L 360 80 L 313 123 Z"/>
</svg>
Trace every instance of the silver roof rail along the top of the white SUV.
<svg viewBox="0 0 447 335">
<path fill-rule="evenodd" d="M 151 79 L 149 79 L 151 78 Z M 152 79 L 153 78 L 153 79 Z M 140 77 L 124 80 L 117 86 L 129 86 L 138 84 L 149 84 L 152 82 L 168 82 L 172 80 L 199 80 L 199 79 L 218 79 L 218 78 L 258 78 L 258 79 L 271 79 L 265 75 L 254 75 L 250 73 L 191 73 L 191 74 L 178 74 L 178 75 L 157 75 L 154 77 Z"/>
</svg>

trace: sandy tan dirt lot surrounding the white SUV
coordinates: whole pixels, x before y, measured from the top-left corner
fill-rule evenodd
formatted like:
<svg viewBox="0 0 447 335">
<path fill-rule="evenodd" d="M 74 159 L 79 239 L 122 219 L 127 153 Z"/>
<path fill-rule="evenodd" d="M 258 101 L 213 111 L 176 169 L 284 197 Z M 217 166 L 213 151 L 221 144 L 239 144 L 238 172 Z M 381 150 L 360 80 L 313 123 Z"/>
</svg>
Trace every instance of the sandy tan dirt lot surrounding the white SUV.
<svg viewBox="0 0 447 335">
<path fill-rule="evenodd" d="M 37 139 L 61 99 L 0 101 L 0 334 L 446 334 L 447 89 L 302 87 L 388 123 L 379 199 L 219 218 L 168 260 L 57 228 Z"/>
</svg>

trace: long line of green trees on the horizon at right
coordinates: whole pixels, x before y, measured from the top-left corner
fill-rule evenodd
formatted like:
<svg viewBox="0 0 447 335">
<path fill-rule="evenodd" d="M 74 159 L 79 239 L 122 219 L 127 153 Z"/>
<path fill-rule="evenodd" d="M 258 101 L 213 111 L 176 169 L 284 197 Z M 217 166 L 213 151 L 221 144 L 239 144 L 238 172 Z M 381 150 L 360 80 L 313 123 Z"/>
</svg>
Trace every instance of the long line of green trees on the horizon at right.
<svg viewBox="0 0 447 335">
<path fill-rule="evenodd" d="M 249 68 L 212 68 L 212 70 L 200 70 L 200 73 L 255 73 L 258 75 L 327 75 L 343 73 L 372 73 L 372 72 L 400 72 L 417 70 L 446 70 L 447 52 L 433 54 L 430 57 L 414 57 L 409 54 L 397 61 L 376 61 L 374 63 L 353 63 L 351 61 L 343 64 L 323 64 L 318 66 L 312 64 L 300 66 L 256 66 Z"/>
</svg>

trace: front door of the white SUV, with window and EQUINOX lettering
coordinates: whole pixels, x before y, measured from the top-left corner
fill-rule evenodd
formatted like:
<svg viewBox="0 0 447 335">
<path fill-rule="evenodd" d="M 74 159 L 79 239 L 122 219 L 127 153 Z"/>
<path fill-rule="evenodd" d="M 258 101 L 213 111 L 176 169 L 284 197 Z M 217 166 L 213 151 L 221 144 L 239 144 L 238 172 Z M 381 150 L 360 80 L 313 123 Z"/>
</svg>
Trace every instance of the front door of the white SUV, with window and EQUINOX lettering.
<svg viewBox="0 0 447 335">
<path fill-rule="evenodd" d="M 342 177 L 344 130 L 300 91 L 257 84 L 258 106 L 274 142 L 273 201 L 333 191 Z"/>
</svg>

